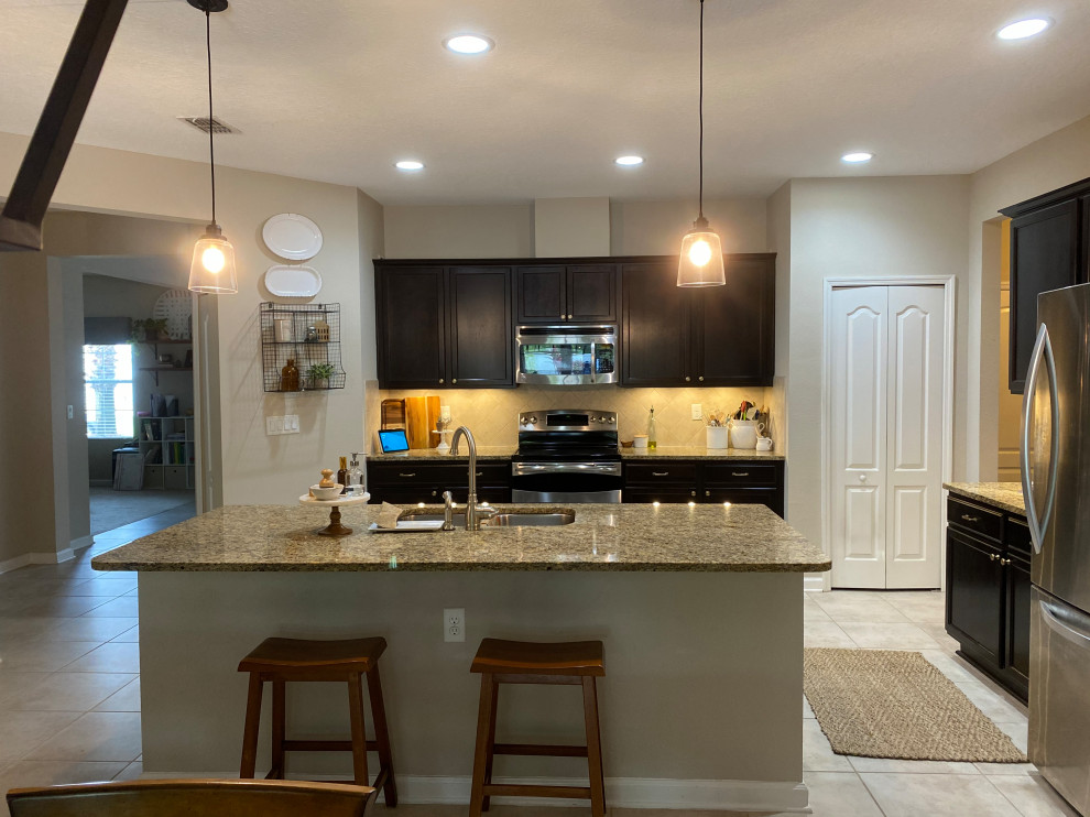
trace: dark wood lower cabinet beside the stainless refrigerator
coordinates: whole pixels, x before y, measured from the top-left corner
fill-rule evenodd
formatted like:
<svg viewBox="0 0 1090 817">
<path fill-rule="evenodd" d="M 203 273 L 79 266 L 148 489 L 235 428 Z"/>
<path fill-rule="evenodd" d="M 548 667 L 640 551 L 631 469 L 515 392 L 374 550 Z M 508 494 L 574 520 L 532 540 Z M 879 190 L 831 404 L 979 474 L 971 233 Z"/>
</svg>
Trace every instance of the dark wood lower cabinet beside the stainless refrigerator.
<svg viewBox="0 0 1090 817">
<path fill-rule="evenodd" d="M 1022 700 L 1029 694 L 1029 536 L 1025 518 L 950 498 L 946 631 Z"/>
</svg>

